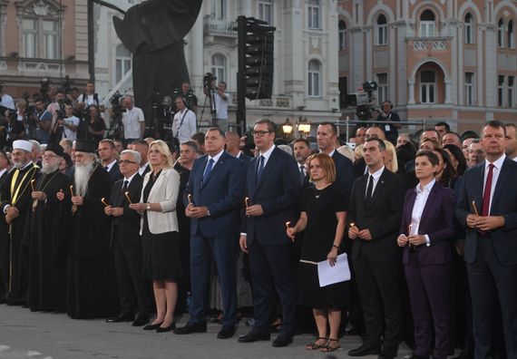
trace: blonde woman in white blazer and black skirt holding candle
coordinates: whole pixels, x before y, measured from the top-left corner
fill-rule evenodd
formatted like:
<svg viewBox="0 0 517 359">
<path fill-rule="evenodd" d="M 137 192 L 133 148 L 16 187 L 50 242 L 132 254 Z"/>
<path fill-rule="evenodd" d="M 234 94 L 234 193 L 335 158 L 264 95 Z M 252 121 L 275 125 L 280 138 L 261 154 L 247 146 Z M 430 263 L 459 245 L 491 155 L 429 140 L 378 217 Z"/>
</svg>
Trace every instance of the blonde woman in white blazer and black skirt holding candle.
<svg viewBox="0 0 517 359">
<path fill-rule="evenodd" d="M 143 214 L 141 219 L 144 277 L 152 279 L 157 315 L 145 330 L 158 333 L 174 329 L 174 309 L 178 299 L 180 238 L 176 202 L 180 175 L 174 170 L 171 151 L 164 141 L 152 141 L 148 154 L 151 171 L 142 184 L 141 201 L 130 205 Z"/>
</svg>

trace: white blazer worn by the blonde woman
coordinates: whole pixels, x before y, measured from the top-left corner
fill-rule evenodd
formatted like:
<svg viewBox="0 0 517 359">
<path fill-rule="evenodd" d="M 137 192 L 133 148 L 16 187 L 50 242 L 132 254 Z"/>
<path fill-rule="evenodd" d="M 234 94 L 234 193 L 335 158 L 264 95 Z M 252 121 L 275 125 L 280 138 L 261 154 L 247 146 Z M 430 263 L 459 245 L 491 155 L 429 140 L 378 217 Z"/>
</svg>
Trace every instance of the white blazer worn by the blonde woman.
<svg viewBox="0 0 517 359">
<path fill-rule="evenodd" d="M 152 171 L 147 172 L 143 178 L 140 201 L 143 202 L 143 189 L 149 182 Z M 152 234 L 160 234 L 178 231 L 178 217 L 176 216 L 176 202 L 180 192 L 180 174 L 174 169 L 161 170 L 160 176 L 152 186 L 147 203 L 160 203 L 161 212 L 148 210 L 147 215 L 149 231 Z M 141 218 L 140 234 L 143 228 L 143 217 Z"/>
</svg>

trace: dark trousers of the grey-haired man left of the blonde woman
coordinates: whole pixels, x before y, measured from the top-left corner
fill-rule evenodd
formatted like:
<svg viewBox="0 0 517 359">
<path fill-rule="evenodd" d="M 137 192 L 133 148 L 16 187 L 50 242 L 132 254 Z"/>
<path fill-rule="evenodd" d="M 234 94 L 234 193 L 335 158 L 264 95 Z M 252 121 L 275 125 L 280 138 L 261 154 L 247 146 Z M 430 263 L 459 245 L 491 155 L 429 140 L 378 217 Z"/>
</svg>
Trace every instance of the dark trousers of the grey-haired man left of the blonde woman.
<svg viewBox="0 0 517 359">
<path fill-rule="evenodd" d="M 149 313 L 153 308 L 153 298 L 141 277 L 141 246 L 125 247 L 123 240 L 115 232 L 113 259 L 121 312 L 133 313 L 138 306 L 139 312 Z"/>
</svg>

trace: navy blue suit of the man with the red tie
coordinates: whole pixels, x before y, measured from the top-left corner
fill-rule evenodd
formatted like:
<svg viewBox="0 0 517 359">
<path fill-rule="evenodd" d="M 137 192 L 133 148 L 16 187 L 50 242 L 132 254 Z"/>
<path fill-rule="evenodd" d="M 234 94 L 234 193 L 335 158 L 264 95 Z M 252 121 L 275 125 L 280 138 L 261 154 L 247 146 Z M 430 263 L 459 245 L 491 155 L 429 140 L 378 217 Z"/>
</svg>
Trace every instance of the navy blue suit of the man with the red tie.
<svg viewBox="0 0 517 359">
<path fill-rule="evenodd" d="M 502 216 L 504 225 L 487 233 L 466 226 L 467 216 L 474 213 L 473 201 L 481 214 L 484 172 L 485 162 L 465 172 L 456 204 L 456 218 L 466 228 L 464 259 L 473 303 L 475 356 L 490 354 L 493 302 L 498 296 L 506 354 L 517 358 L 517 162 L 508 158 L 502 162 L 489 213 Z"/>
</svg>

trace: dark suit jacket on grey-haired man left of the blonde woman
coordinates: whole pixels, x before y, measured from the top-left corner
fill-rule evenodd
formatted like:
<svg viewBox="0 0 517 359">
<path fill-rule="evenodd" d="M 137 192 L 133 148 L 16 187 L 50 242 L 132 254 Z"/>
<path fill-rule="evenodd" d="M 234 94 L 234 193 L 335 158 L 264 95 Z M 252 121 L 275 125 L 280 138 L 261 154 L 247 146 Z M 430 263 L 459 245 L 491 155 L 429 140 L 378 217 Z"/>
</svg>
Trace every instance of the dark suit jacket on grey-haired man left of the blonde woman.
<svg viewBox="0 0 517 359">
<path fill-rule="evenodd" d="M 127 191 L 129 191 L 129 197 L 133 202 L 140 199 L 141 196 L 141 183 L 143 179 L 138 172 L 132 178 Z M 124 185 L 124 179 L 119 179 L 113 183 L 112 194 L 110 196 L 110 205 L 112 207 L 122 207 L 123 214 L 121 217 L 113 217 L 112 220 L 112 238 L 116 234 L 119 238 L 122 238 L 121 244 L 123 247 L 140 247 L 140 218 L 141 215 L 134 209 L 129 208 L 129 201 L 122 193 L 122 187 Z"/>
</svg>

